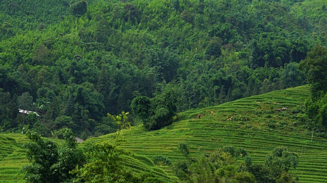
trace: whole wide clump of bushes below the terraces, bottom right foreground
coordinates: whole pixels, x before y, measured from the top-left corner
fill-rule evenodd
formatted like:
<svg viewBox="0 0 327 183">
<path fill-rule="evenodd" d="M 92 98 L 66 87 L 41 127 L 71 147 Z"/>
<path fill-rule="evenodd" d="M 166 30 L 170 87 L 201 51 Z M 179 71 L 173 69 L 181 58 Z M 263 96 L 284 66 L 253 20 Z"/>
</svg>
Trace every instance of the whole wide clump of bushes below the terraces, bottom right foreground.
<svg viewBox="0 0 327 183">
<path fill-rule="evenodd" d="M 173 164 L 176 176 L 190 182 L 297 182 L 297 178 L 289 173 L 298 163 L 298 155 L 285 147 L 278 147 L 267 156 L 265 163 L 254 164 L 250 156 L 244 155 L 244 162 L 238 163 L 232 155 L 244 148 L 224 146 L 209 155 L 200 155 L 187 161 Z"/>
</svg>

